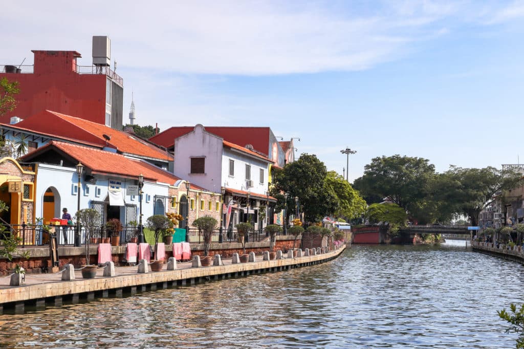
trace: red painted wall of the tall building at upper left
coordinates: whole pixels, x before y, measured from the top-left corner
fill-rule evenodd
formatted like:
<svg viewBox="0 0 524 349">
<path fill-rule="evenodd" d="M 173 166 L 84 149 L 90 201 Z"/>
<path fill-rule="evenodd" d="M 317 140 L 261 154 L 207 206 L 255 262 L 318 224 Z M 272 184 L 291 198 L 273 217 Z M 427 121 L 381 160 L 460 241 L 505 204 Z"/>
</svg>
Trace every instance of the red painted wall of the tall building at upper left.
<svg viewBox="0 0 524 349">
<path fill-rule="evenodd" d="M 18 106 L 0 118 L 9 123 L 11 116 L 26 118 L 42 110 L 77 116 L 105 123 L 106 76 L 77 74 L 75 51 L 33 51 L 34 73 L 0 73 L 1 78 L 18 81 Z"/>
</svg>

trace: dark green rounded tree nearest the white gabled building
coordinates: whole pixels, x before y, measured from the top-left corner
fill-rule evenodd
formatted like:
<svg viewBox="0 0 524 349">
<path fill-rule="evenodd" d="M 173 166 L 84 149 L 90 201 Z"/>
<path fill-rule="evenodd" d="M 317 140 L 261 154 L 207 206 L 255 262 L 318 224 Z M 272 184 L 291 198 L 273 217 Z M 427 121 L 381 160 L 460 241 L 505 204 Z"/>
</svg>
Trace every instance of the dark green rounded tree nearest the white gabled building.
<svg viewBox="0 0 524 349">
<path fill-rule="evenodd" d="M 337 198 L 333 188 L 325 180 L 326 174 L 324 163 L 315 155 L 302 154 L 297 161 L 288 163 L 282 170 L 272 172 L 274 185 L 270 190 L 271 195 L 278 199 L 278 208 L 283 209 L 286 201 L 281 193 L 288 194 L 287 216 L 294 211 L 294 198 L 297 197 L 304 220 L 317 222 L 337 209 Z"/>
</svg>

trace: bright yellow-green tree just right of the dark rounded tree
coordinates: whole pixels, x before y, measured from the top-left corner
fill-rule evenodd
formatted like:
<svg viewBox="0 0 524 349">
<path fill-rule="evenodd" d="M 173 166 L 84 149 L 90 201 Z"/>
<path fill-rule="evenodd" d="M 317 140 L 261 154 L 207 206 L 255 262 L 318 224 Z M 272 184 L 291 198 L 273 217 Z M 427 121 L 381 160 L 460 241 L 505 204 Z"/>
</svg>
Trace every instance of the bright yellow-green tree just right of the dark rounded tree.
<svg viewBox="0 0 524 349">
<path fill-rule="evenodd" d="M 348 217 L 351 220 L 366 212 L 366 201 L 344 177 L 335 171 L 329 171 L 326 176 L 326 182 L 335 193 L 337 209 L 334 213 L 336 216 Z"/>
</svg>

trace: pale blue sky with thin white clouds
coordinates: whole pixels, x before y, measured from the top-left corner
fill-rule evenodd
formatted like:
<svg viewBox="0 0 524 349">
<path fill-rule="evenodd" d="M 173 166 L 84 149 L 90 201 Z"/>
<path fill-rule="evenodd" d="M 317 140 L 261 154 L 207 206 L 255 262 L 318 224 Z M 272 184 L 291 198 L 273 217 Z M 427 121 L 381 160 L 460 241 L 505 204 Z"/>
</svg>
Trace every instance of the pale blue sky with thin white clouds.
<svg viewBox="0 0 524 349">
<path fill-rule="evenodd" d="M 15 65 L 36 49 L 90 66 L 107 35 L 124 121 L 133 91 L 142 126 L 269 126 L 341 174 L 356 150 L 350 181 L 395 154 L 524 162 L 524 1 L 24 1 L 0 32 Z"/>
</svg>

